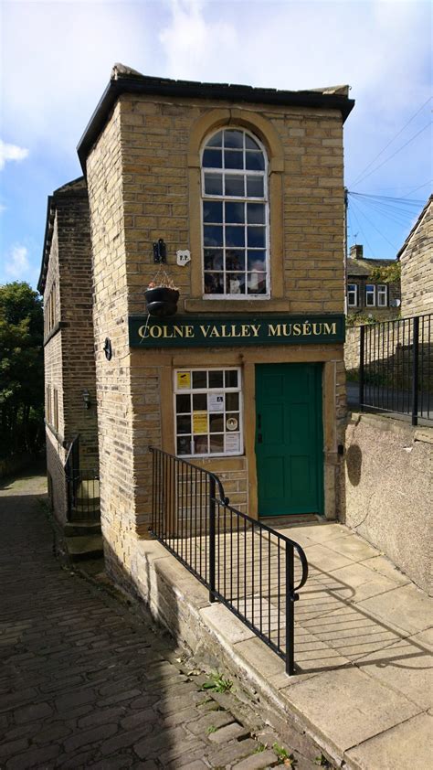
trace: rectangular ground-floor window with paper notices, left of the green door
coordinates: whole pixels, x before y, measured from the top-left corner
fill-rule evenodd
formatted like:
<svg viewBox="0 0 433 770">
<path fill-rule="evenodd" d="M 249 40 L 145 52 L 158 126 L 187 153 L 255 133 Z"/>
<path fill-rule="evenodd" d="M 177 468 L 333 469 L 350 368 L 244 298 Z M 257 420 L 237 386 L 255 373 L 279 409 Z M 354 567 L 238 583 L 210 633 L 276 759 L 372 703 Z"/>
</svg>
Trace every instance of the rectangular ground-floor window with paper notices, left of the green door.
<svg viewBox="0 0 433 770">
<path fill-rule="evenodd" d="M 175 369 L 174 421 L 177 455 L 242 455 L 240 369 Z"/>
</svg>

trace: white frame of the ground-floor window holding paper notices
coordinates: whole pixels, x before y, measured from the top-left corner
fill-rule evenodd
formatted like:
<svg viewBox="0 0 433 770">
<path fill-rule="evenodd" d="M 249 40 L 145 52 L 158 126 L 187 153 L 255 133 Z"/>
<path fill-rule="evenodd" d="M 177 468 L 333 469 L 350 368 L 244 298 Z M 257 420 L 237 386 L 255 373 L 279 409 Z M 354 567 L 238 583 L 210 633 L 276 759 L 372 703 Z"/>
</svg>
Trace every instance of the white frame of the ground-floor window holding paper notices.
<svg viewBox="0 0 433 770">
<path fill-rule="evenodd" d="M 223 385 L 222 388 L 221 387 L 219 387 L 219 388 L 193 388 L 192 372 L 194 372 L 194 371 L 206 371 L 206 372 L 209 372 L 209 371 L 222 371 L 224 373 L 226 371 L 237 371 L 238 372 L 238 386 L 236 388 L 226 388 L 225 385 Z M 178 384 L 177 384 L 177 374 L 181 373 L 181 372 L 191 372 L 190 387 L 188 387 L 188 388 L 179 388 L 178 387 Z M 175 454 L 178 457 L 185 458 L 185 459 L 186 458 L 190 459 L 191 457 L 238 457 L 239 455 L 243 455 L 244 454 L 244 425 L 243 425 L 243 398 L 242 398 L 242 371 L 241 371 L 240 367 L 225 367 L 225 366 L 220 366 L 220 367 L 182 367 L 182 368 L 174 369 L 174 373 L 173 374 L 174 374 L 174 388 L 173 388 L 173 390 L 174 390 L 174 442 L 175 442 Z M 230 432 L 230 431 L 226 430 L 226 427 L 227 427 L 227 425 L 226 425 L 226 409 L 224 409 L 224 418 L 223 419 L 224 419 L 225 430 L 224 430 L 224 433 L 216 433 L 216 435 L 224 435 L 225 437 L 226 437 L 226 435 L 230 435 L 230 433 L 232 435 L 233 434 L 238 434 L 239 435 L 239 448 L 238 448 L 238 450 L 227 452 L 226 449 L 225 449 L 224 452 L 194 453 L 194 444 L 193 444 L 193 436 L 194 436 L 194 432 L 193 432 L 193 414 L 194 414 L 194 410 L 191 407 L 191 412 L 179 412 L 178 413 L 176 411 L 176 396 L 177 395 L 182 395 L 182 394 L 185 394 L 185 395 L 197 394 L 198 395 L 198 394 L 202 394 L 202 393 L 206 393 L 206 395 L 209 394 L 209 393 L 216 393 L 216 394 L 219 394 L 219 393 L 238 393 L 238 397 L 239 397 L 239 409 L 238 409 L 238 412 L 239 412 L 239 425 L 238 425 L 238 430 L 237 431 L 233 431 L 233 432 Z M 198 410 L 198 411 L 202 412 L 204 410 Z M 209 422 L 208 421 L 209 421 L 209 414 L 211 414 L 212 412 L 210 412 L 208 409 L 206 409 L 206 412 L 207 412 L 207 433 L 206 434 L 204 433 L 203 435 L 209 436 L 211 433 L 209 431 Z M 219 412 L 214 412 L 214 413 L 217 414 Z M 184 415 L 184 414 L 185 415 L 186 414 L 190 414 L 191 415 L 191 452 L 188 453 L 188 454 L 185 454 L 185 455 L 179 455 L 178 452 L 177 452 L 177 439 L 178 439 L 179 436 L 189 435 L 188 433 L 177 433 L 177 417 L 181 416 L 181 415 Z M 197 433 L 196 435 L 200 435 L 200 433 Z M 224 444 L 226 444 L 226 439 L 224 440 Z"/>
</svg>

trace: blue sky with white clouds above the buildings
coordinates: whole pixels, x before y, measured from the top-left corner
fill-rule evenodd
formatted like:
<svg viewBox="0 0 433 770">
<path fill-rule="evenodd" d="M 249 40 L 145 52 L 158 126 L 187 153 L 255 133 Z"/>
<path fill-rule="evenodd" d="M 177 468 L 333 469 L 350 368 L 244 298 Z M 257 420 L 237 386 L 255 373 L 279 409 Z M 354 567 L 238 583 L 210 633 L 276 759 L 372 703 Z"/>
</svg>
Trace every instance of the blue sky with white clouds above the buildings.
<svg viewBox="0 0 433 770">
<path fill-rule="evenodd" d="M 0 0 L 0 284 L 36 287 L 47 198 L 115 62 L 286 89 L 348 83 L 348 244 L 393 259 L 431 192 L 432 10 L 424 0 Z M 396 200 L 397 198 L 397 200 Z"/>
</svg>

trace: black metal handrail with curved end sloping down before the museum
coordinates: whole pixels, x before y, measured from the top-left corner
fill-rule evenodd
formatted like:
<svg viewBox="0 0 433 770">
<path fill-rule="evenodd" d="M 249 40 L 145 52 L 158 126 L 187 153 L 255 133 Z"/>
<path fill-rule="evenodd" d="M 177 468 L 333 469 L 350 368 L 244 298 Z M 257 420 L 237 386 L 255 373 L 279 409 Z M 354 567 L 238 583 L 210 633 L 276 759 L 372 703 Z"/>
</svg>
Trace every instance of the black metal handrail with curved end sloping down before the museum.
<svg viewBox="0 0 433 770">
<path fill-rule="evenodd" d="M 154 537 L 295 673 L 294 603 L 308 577 L 301 546 L 230 506 L 215 474 L 150 450 Z"/>
</svg>

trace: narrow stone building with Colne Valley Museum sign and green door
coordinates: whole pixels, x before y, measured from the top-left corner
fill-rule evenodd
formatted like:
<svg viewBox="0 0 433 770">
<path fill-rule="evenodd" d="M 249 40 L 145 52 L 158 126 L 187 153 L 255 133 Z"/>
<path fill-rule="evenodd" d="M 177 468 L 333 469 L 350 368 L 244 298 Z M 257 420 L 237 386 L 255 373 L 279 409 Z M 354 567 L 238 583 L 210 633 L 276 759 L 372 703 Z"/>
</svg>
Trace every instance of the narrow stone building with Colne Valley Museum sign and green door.
<svg viewBox="0 0 433 770">
<path fill-rule="evenodd" d="M 118 579 L 131 580 L 148 534 L 152 444 L 216 472 L 253 518 L 339 515 L 353 105 L 345 86 L 276 91 L 112 71 L 79 159 L 101 525 Z M 146 309 L 161 271 L 180 294 L 169 318 Z"/>
</svg>

